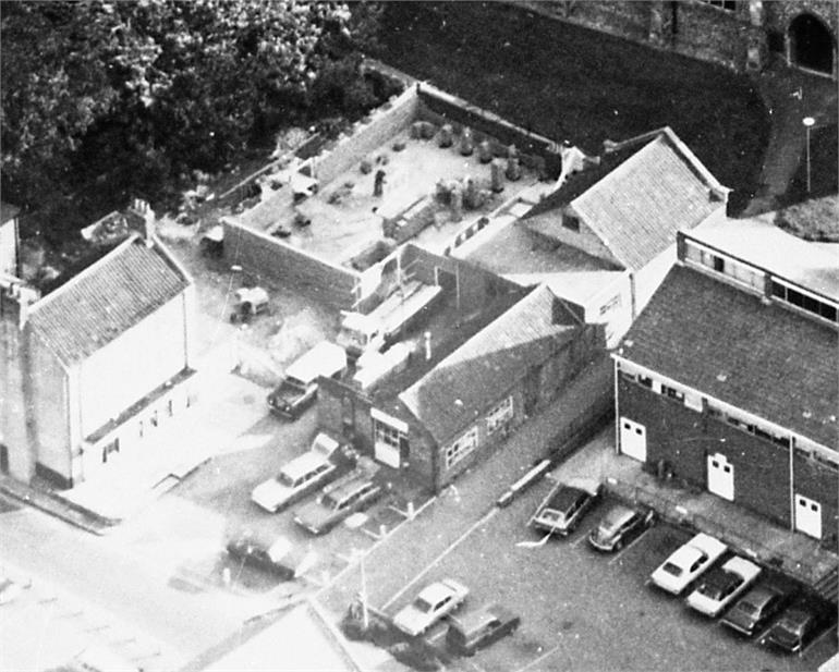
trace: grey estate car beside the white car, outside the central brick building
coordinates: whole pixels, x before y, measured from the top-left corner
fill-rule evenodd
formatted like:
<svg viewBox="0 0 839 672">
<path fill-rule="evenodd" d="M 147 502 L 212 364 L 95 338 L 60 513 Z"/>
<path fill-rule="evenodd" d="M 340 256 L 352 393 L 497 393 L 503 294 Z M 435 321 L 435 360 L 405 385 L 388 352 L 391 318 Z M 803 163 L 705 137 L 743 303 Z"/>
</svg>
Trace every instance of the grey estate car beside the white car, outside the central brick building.
<svg viewBox="0 0 839 672">
<path fill-rule="evenodd" d="M 294 522 L 313 535 L 323 535 L 351 514 L 363 511 L 384 494 L 374 480 L 378 466 L 365 463 L 320 491 L 317 499 L 294 512 Z"/>
</svg>

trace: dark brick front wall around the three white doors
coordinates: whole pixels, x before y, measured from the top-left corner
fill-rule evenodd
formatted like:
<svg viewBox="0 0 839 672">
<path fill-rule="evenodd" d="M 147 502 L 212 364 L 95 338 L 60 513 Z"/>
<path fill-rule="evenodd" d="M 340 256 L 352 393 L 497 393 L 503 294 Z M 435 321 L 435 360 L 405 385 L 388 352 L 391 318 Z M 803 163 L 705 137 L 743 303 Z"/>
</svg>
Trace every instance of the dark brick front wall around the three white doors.
<svg viewBox="0 0 839 672">
<path fill-rule="evenodd" d="M 623 378 L 618 390 L 620 415 L 646 427 L 649 464 L 665 460 L 677 476 L 705 489 L 706 456 L 722 453 L 734 467 L 734 501 L 791 526 L 789 449 Z M 835 529 L 837 472 L 797 453 L 793 473 L 795 491 L 822 503 L 823 529 Z"/>
</svg>

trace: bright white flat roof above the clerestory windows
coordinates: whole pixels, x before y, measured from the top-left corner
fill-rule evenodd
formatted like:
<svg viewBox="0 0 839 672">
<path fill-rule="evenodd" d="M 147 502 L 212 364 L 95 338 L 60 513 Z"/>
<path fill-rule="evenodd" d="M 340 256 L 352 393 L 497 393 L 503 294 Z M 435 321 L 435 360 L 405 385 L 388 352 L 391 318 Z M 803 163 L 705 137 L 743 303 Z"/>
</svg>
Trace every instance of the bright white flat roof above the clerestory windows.
<svg viewBox="0 0 839 672">
<path fill-rule="evenodd" d="M 724 254 L 839 301 L 839 243 L 811 243 L 773 224 L 774 212 L 751 219 L 709 217 L 685 235 Z"/>
</svg>

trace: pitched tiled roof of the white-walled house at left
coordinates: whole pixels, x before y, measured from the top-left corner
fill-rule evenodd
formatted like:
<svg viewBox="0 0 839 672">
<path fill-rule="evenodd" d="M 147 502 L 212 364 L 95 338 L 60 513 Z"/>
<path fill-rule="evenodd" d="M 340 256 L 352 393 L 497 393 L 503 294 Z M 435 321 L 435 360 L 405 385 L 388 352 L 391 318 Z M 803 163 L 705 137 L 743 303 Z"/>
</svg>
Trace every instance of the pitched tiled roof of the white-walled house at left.
<svg viewBox="0 0 839 672">
<path fill-rule="evenodd" d="M 132 235 L 32 306 L 27 328 L 65 364 L 84 359 L 191 284 L 155 243 Z"/>
</svg>

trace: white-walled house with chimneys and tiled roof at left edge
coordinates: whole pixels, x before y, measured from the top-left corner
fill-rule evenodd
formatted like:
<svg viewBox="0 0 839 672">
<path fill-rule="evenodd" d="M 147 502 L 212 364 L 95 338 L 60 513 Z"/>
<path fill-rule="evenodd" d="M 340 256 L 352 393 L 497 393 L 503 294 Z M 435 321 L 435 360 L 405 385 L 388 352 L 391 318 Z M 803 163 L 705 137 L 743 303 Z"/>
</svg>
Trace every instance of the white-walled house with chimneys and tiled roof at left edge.
<svg viewBox="0 0 839 672">
<path fill-rule="evenodd" d="M 125 218 L 127 237 L 44 297 L 3 286 L 3 405 L 22 413 L 3 414 L 0 436 L 22 480 L 72 487 L 142 451 L 191 403 L 192 280 L 146 204 Z"/>
</svg>

